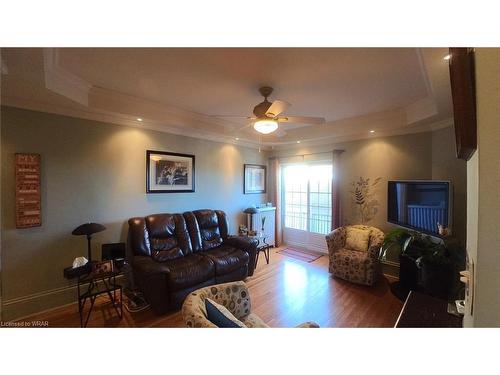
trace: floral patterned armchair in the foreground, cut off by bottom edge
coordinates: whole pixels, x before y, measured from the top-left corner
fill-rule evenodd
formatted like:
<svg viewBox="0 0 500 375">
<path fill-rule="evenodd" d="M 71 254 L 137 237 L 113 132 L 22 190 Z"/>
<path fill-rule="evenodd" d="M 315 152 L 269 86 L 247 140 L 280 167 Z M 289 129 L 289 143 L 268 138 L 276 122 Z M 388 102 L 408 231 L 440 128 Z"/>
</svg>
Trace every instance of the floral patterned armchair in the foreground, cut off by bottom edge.
<svg viewBox="0 0 500 375">
<path fill-rule="evenodd" d="M 205 298 L 223 305 L 236 319 L 248 328 L 268 328 L 269 326 L 251 312 L 250 294 L 243 281 L 207 286 L 190 293 L 182 305 L 182 318 L 188 328 L 217 328 L 207 319 Z M 318 328 L 314 322 L 306 322 L 299 328 Z"/>
</svg>

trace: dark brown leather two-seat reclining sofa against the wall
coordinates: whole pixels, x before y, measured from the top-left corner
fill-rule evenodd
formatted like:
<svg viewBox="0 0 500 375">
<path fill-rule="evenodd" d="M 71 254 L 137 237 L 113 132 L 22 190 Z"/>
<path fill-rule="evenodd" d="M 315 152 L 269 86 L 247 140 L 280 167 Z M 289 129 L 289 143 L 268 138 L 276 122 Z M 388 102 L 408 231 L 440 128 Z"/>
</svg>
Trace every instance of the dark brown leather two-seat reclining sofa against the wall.
<svg viewBox="0 0 500 375">
<path fill-rule="evenodd" d="M 257 241 L 229 236 L 223 211 L 155 214 L 128 224 L 134 282 L 157 314 L 178 310 L 196 289 L 253 274 Z"/>
</svg>

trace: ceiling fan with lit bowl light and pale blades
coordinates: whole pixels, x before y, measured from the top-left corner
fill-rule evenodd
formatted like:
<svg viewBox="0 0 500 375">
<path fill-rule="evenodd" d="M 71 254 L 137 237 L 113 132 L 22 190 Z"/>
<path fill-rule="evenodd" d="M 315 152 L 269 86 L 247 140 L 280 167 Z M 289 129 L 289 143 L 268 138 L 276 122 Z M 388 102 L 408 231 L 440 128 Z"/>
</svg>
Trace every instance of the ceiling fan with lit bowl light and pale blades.
<svg viewBox="0 0 500 375">
<path fill-rule="evenodd" d="M 291 106 L 290 103 L 283 100 L 275 100 L 270 102 L 267 98 L 273 92 L 273 88 L 264 86 L 259 89 L 260 94 L 264 97 L 264 101 L 257 104 L 253 109 L 253 117 L 247 116 L 213 116 L 213 117 L 233 117 L 233 118 L 246 118 L 250 123 L 245 125 L 243 130 L 251 125 L 253 128 L 262 134 L 270 134 L 278 129 L 278 124 L 307 124 L 316 125 L 323 124 L 325 119 L 323 117 L 306 117 L 306 116 L 285 116 L 283 112 Z"/>
</svg>

